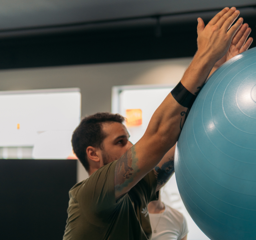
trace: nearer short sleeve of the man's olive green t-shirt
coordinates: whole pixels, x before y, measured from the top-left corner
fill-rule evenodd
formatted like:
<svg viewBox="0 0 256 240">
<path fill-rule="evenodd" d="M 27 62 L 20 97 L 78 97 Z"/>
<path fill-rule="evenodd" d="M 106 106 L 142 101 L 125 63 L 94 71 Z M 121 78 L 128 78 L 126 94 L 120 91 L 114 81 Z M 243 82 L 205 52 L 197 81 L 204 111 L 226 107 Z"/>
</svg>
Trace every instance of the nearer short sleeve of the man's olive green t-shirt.
<svg viewBox="0 0 256 240">
<path fill-rule="evenodd" d="M 116 161 L 99 168 L 76 192 L 79 208 L 91 224 L 106 225 L 107 218 L 122 199 L 115 201 L 115 165 Z"/>
</svg>

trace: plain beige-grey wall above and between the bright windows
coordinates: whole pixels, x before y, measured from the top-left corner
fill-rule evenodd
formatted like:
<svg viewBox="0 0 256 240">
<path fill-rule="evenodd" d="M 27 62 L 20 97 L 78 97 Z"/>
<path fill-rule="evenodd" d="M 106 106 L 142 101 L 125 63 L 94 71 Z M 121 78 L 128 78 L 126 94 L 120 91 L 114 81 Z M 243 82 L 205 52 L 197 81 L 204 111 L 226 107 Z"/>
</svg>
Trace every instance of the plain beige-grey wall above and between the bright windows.
<svg viewBox="0 0 256 240">
<path fill-rule="evenodd" d="M 0 91 L 71 88 L 81 90 L 81 115 L 111 111 L 115 85 L 177 84 L 192 58 L 0 71 Z M 87 177 L 78 164 L 77 181 Z"/>
</svg>

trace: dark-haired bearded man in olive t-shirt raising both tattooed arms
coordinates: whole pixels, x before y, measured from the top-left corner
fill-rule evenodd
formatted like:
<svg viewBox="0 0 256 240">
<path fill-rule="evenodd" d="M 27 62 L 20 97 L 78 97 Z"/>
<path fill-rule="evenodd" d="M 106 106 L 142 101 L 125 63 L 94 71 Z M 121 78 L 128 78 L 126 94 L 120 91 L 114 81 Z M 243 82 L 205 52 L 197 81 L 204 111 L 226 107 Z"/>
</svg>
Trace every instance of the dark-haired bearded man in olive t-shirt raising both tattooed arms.
<svg viewBox="0 0 256 240">
<path fill-rule="evenodd" d="M 197 92 L 212 69 L 252 42 L 246 42 L 250 29 L 242 18 L 230 27 L 238 15 L 234 7 L 225 8 L 206 27 L 198 19 L 198 51 L 135 145 L 120 115 L 95 114 L 81 121 L 72 145 L 90 177 L 69 192 L 64 240 L 151 239 L 147 206 L 174 172 L 173 146 Z"/>
</svg>

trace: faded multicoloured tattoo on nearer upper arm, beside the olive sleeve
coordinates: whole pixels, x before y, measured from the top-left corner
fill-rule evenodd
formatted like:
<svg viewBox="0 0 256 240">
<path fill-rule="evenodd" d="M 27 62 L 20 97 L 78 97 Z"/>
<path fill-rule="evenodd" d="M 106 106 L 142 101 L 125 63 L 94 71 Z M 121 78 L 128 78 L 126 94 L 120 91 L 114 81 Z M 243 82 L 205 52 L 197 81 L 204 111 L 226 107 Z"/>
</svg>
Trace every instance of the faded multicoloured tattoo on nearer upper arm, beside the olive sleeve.
<svg viewBox="0 0 256 240">
<path fill-rule="evenodd" d="M 140 172 L 135 145 L 117 161 L 115 166 L 115 191 L 122 191 L 133 182 L 136 173 Z"/>
</svg>

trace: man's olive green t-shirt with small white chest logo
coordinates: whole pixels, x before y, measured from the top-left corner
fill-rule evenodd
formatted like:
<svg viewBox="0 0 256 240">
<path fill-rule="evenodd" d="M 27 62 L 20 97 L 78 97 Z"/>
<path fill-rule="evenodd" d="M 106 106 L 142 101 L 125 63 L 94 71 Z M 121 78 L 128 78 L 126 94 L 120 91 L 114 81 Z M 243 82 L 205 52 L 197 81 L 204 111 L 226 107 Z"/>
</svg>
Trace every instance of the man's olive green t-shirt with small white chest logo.
<svg viewBox="0 0 256 240">
<path fill-rule="evenodd" d="M 115 165 L 101 167 L 69 191 L 63 240 L 151 239 L 148 203 L 158 198 L 155 174 L 149 172 L 116 202 Z"/>
</svg>

